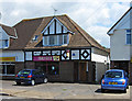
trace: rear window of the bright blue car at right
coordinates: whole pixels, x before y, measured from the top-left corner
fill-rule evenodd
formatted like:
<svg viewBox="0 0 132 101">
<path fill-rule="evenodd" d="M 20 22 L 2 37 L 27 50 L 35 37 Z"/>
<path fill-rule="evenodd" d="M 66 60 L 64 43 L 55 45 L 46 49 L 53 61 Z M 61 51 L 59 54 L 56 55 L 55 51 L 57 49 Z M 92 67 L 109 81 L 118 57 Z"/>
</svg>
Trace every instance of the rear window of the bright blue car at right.
<svg viewBox="0 0 132 101">
<path fill-rule="evenodd" d="M 121 71 L 108 71 L 106 78 L 122 78 Z"/>
</svg>

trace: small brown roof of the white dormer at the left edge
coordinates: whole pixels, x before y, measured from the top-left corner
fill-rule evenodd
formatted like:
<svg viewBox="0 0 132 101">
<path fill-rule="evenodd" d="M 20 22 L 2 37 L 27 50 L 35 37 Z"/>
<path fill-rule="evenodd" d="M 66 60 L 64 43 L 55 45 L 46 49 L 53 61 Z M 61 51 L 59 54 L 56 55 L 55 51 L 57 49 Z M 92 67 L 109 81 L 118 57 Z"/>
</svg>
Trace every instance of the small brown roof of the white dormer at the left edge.
<svg viewBox="0 0 132 101">
<path fill-rule="evenodd" d="M 14 27 L 7 26 L 7 25 L 3 25 L 3 24 L 0 24 L 0 26 L 6 31 L 6 33 L 7 33 L 9 36 L 14 36 L 14 37 L 16 37 L 16 31 L 15 31 Z"/>
</svg>

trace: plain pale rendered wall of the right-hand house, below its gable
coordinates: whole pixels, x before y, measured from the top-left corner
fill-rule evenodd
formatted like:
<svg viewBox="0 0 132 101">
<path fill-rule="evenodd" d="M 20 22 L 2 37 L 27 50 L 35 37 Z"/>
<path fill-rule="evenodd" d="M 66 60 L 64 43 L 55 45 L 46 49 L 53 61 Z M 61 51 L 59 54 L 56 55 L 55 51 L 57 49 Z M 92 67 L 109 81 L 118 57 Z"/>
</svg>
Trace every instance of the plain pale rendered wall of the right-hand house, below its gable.
<svg viewBox="0 0 132 101">
<path fill-rule="evenodd" d="M 125 30 L 116 30 L 110 35 L 111 60 L 130 60 L 130 45 L 125 44 Z"/>
</svg>

